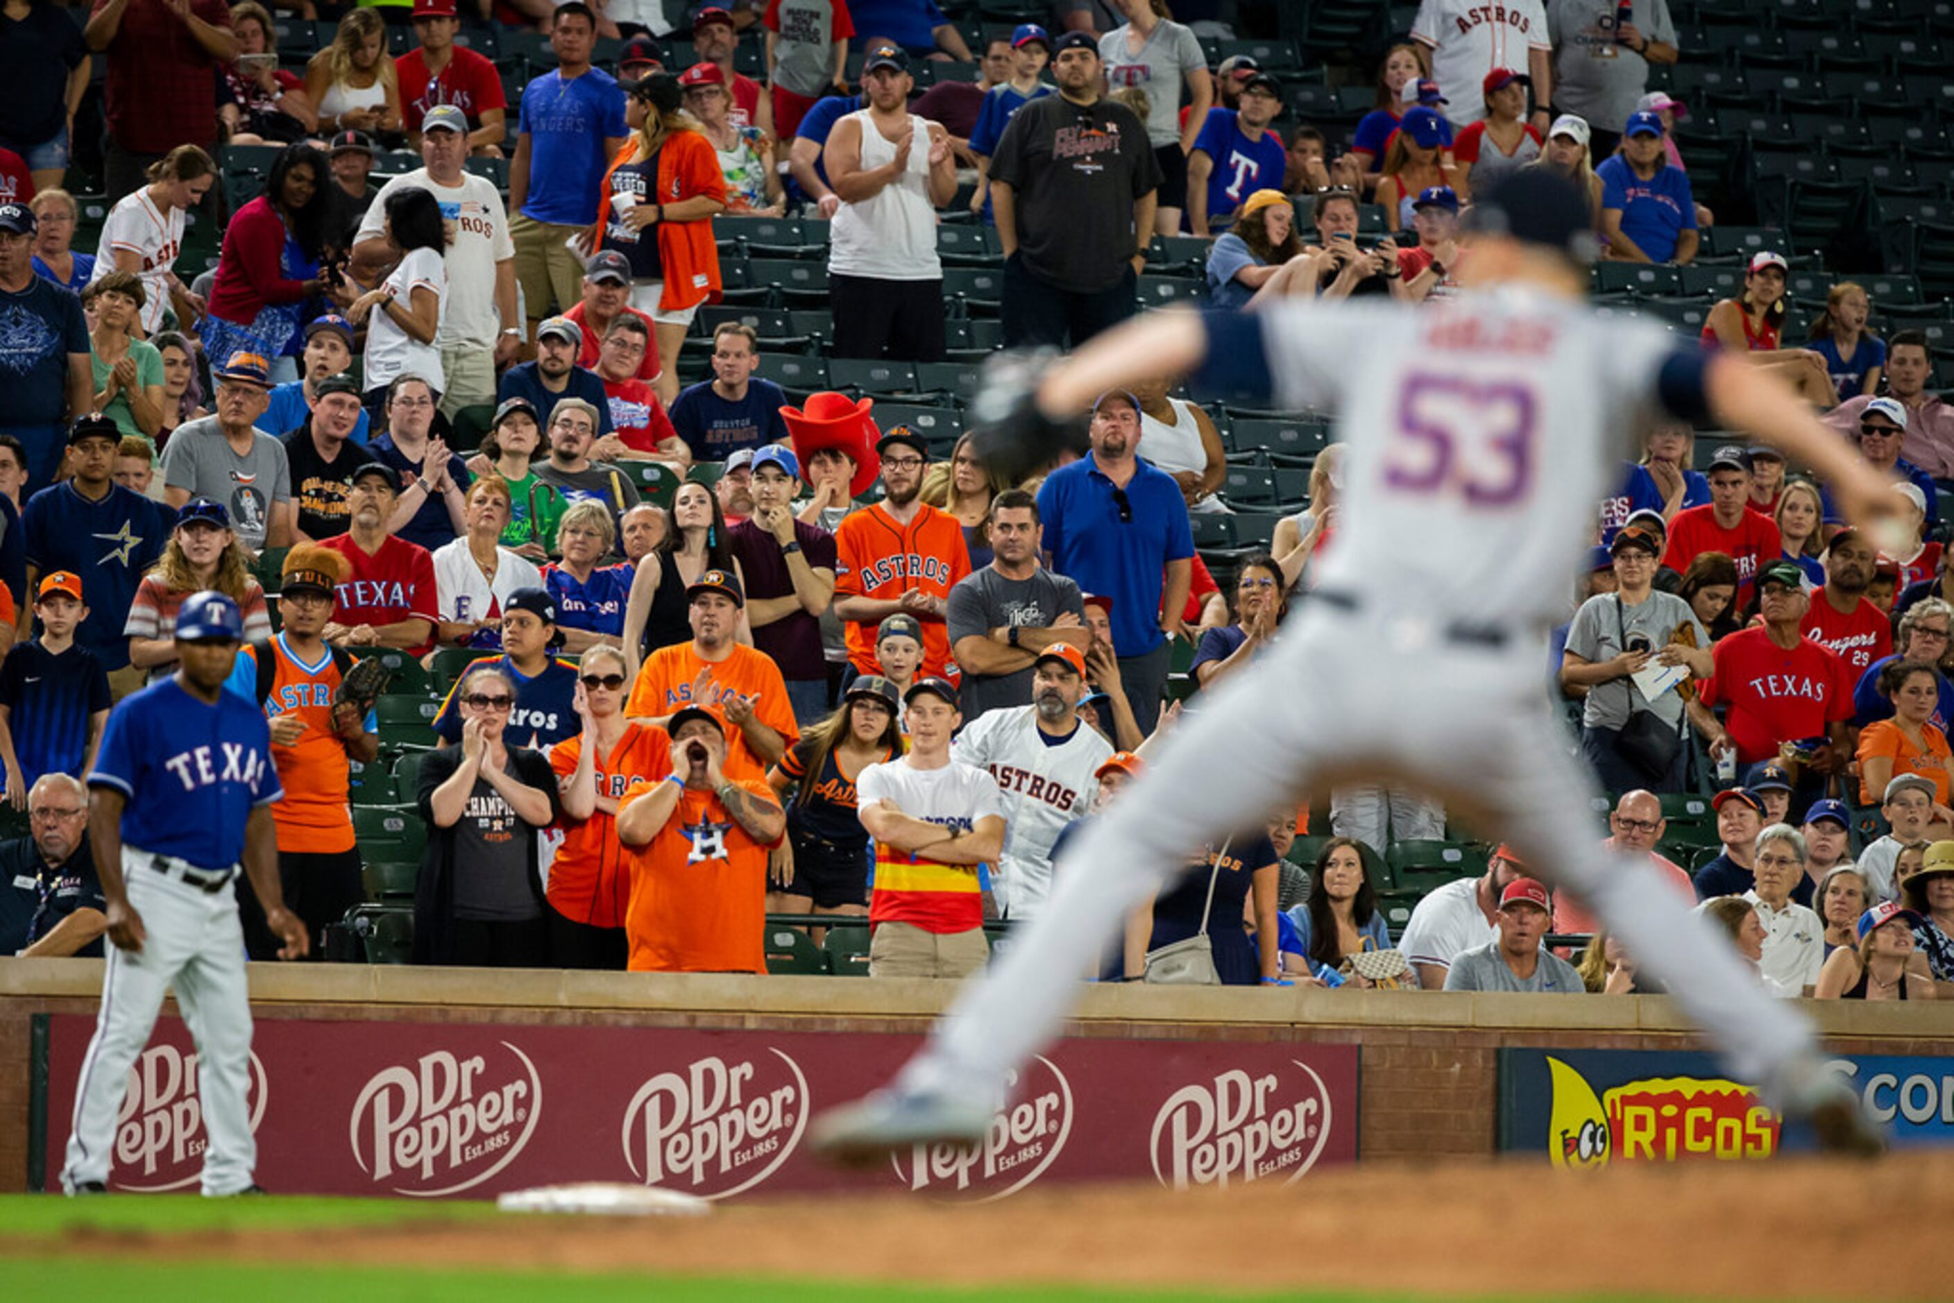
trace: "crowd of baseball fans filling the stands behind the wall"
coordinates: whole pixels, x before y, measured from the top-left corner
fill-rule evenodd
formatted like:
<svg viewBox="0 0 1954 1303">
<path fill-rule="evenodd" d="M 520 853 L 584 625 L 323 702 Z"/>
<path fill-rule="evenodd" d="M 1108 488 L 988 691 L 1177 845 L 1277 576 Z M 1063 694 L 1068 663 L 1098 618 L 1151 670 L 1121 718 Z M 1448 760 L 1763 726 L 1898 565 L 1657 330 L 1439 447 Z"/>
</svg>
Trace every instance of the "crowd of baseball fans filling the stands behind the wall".
<svg viewBox="0 0 1954 1303">
<path fill-rule="evenodd" d="M 1210 68 L 1213 2 L 1057 0 L 983 49 L 930 0 L 485 8 L 549 66 L 504 88 L 455 0 L 309 0 L 295 68 L 254 0 L 8 0 L 0 758 L 29 824 L 0 846 L 0 953 L 100 953 L 76 779 L 215 588 L 244 611 L 233 688 L 272 719 L 315 951 L 369 897 L 358 789 L 399 779 L 426 834 L 416 961 L 766 971 L 778 912 L 868 916 L 875 975 L 961 977 L 1309 600 L 1340 449 L 1217 582 L 1198 524 L 1235 504 L 1202 402 L 1108 393 L 1004 481 L 967 438 L 758 375 L 762 334 L 711 316 L 743 232 L 825 225 L 830 359 L 936 363 L 952 227 L 1000 258 L 997 342 L 1063 348 L 1141 311 L 1157 236 L 1200 242 L 1221 311 L 1452 297 L 1471 195 L 1510 168 L 1583 186 L 1612 264 L 1686 266 L 1714 223 L 1671 135 L 1686 105 L 1647 90 L 1678 57 L 1663 0 L 1630 23 L 1518 0 L 1491 33 L 1426 0 L 1348 141 L 1254 57 Z M 90 252 L 63 186 L 96 63 Z M 1927 998 L 1954 983 L 1954 416 L 1929 340 L 1872 334 L 1856 283 L 1784 340 L 1790 275 L 1749 258 L 1704 346 L 1886 469 L 1909 547 L 1768 449 L 1651 430 L 1544 692 L 1618 795 L 1622 871 L 1692 891 L 1784 994 Z M 451 684 L 424 736 L 334 709 L 371 654 Z M 1669 811 L 1712 791 L 1714 854 L 1678 865 Z M 1227 985 L 1647 988 L 1507 846 L 1454 862 L 1393 940 L 1385 875 L 1448 844 L 1446 811 L 1315 795 L 1327 836 L 1305 805 L 1206 848 L 1106 977 L 1208 936 Z M 1579 967 L 1550 934 L 1589 938 Z"/>
</svg>

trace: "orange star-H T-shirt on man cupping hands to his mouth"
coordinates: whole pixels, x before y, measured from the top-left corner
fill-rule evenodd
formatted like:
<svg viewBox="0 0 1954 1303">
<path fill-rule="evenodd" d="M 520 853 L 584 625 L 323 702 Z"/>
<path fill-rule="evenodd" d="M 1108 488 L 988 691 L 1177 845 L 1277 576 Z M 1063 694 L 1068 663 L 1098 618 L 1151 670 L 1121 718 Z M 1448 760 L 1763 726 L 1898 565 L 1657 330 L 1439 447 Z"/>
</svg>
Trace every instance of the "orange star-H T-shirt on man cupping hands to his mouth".
<svg viewBox="0 0 1954 1303">
<path fill-rule="evenodd" d="M 662 781 L 635 779 L 617 813 Z M 758 779 L 735 785 L 780 807 Z M 766 973 L 766 850 L 719 797 L 688 787 L 651 846 L 631 852 L 631 971 Z"/>
</svg>

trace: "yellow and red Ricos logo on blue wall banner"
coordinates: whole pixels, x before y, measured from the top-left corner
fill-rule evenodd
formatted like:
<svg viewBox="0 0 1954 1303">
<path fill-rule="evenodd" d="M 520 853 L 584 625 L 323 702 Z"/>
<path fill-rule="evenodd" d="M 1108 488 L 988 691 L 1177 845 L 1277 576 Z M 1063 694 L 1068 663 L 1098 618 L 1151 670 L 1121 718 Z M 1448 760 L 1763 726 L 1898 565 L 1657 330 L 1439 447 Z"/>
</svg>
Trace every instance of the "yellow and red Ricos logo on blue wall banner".
<svg viewBox="0 0 1954 1303">
<path fill-rule="evenodd" d="M 1598 1100 L 1581 1072 L 1548 1057 L 1553 1108 L 1548 1158 L 1561 1168 L 1677 1158 L 1768 1158 L 1778 1115 L 1733 1080 L 1663 1076 L 1626 1082 Z"/>
</svg>

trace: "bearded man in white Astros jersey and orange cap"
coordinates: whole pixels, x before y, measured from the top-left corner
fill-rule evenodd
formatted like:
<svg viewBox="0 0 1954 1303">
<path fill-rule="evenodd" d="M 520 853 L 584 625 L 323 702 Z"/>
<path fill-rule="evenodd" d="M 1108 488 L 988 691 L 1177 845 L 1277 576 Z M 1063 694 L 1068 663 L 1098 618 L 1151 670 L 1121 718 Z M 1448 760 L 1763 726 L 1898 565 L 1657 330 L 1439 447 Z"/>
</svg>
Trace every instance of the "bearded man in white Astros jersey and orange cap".
<svg viewBox="0 0 1954 1303">
<path fill-rule="evenodd" d="M 1079 721 L 1086 658 L 1051 643 L 1032 666 L 1032 705 L 1006 705 L 973 719 L 950 758 L 989 770 L 1004 793 L 1004 852 L 991 893 L 1004 918 L 1030 918 L 1051 891 L 1051 844 L 1092 809 L 1098 772 L 1112 744 Z"/>
</svg>

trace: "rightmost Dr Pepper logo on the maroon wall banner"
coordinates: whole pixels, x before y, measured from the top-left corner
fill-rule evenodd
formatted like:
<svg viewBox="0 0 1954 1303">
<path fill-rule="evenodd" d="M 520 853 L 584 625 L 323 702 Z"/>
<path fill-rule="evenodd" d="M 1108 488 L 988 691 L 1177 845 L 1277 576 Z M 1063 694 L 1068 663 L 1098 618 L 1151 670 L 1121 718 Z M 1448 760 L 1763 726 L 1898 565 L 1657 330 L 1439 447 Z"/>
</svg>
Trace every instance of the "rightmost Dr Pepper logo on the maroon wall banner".
<svg viewBox="0 0 1954 1303">
<path fill-rule="evenodd" d="M 1161 1104 L 1153 1174 L 1172 1190 L 1274 1178 L 1288 1186 L 1323 1156 L 1331 1123 L 1331 1090 L 1309 1065 L 1290 1059 L 1256 1076 L 1229 1069 Z"/>
</svg>

